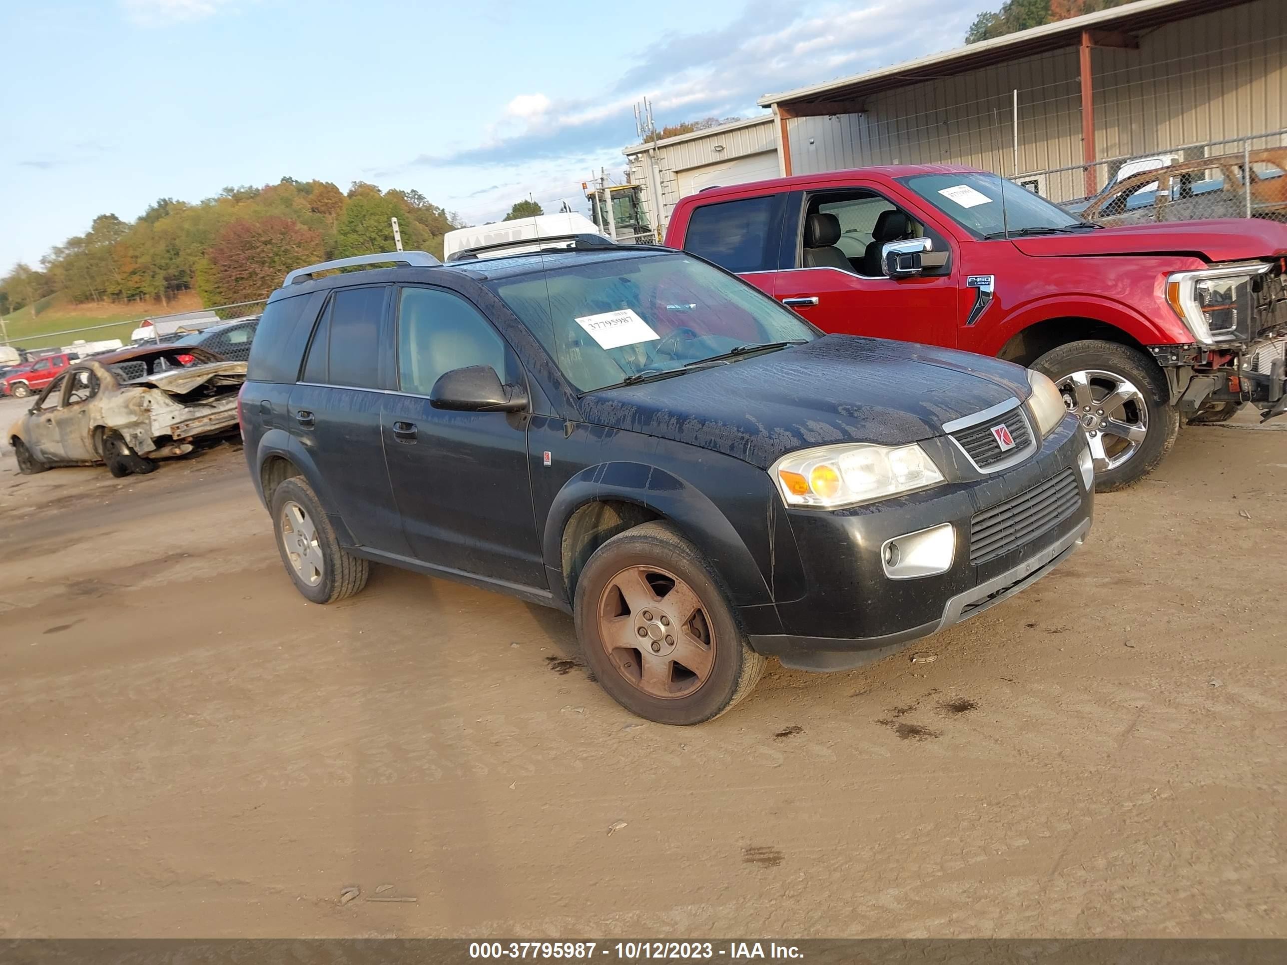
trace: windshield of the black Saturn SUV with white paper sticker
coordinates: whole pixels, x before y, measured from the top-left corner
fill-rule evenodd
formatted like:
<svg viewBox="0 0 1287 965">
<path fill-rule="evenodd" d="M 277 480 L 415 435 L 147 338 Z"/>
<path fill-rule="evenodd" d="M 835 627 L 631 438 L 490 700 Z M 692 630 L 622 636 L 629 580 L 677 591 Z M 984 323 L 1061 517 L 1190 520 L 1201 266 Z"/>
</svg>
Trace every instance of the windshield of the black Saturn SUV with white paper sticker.
<svg viewBox="0 0 1287 965">
<path fill-rule="evenodd" d="M 758 290 L 678 252 L 561 261 L 489 287 L 583 392 L 817 337 Z"/>
</svg>

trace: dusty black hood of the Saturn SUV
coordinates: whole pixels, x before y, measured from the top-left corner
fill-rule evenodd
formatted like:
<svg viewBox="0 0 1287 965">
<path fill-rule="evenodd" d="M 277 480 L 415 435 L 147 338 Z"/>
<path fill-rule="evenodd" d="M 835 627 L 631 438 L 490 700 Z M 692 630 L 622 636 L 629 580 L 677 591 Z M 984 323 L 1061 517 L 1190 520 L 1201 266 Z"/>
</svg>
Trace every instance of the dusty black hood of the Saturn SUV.
<svg viewBox="0 0 1287 965">
<path fill-rule="evenodd" d="M 587 422 L 713 449 L 768 468 L 829 443 L 902 445 L 1027 399 L 1018 365 L 928 345 L 829 335 L 656 382 L 589 392 Z"/>
</svg>

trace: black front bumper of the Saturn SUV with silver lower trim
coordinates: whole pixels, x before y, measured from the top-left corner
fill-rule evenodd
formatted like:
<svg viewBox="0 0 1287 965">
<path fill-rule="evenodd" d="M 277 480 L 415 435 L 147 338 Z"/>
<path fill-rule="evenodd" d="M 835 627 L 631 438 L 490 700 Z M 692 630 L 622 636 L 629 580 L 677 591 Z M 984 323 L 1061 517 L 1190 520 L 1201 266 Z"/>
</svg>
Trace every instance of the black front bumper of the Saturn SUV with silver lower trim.
<svg viewBox="0 0 1287 965">
<path fill-rule="evenodd" d="M 1026 589 L 1076 552 L 1090 530 L 1094 494 L 1077 472 L 1085 446 L 1085 436 L 1069 418 L 1032 458 L 982 480 L 861 507 L 853 515 L 793 512 L 810 592 L 776 605 L 784 633 L 750 636 L 750 645 L 794 669 L 849 670 Z M 972 561 L 970 528 L 977 513 L 1068 470 L 1079 497 L 1073 511 L 1030 542 Z M 916 579 L 885 576 L 880 547 L 887 539 L 941 522 L 956 530 L 950 570 Z"/>
</svg>

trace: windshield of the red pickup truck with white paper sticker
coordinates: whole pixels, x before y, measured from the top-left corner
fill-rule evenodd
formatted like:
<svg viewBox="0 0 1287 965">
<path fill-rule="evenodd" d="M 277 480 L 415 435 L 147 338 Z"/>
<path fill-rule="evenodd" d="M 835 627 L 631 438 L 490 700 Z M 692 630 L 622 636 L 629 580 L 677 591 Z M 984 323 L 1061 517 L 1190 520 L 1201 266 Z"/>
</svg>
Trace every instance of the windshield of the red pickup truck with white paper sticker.
<svg viewBox="0 0 1287 965">
<path fill-rule="evenodd" d="M 914 174 L 898 180 L 978 238 L 1062 234 L 1098 226 L 995 174 Z"/>
</svg>

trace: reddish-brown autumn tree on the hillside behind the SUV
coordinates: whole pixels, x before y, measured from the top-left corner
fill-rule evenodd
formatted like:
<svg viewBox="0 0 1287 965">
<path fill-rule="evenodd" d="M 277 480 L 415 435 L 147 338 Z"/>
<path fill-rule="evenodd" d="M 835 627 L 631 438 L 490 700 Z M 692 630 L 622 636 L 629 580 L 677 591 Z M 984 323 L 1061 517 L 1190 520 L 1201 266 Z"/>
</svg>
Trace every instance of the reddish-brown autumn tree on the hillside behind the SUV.
<svg viewBox="0 0 1287 965">
<path fill-rule="evenodd" d="M 266 299 L 287 271 L 323 257 L 322 234 L 287 217 L 233 221 L 206 256 L 202 280 L 210 291 L 202 295 L 207 304 L 224 305 Z"/>
</svg>

